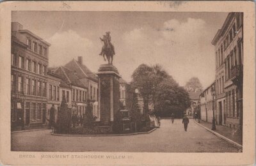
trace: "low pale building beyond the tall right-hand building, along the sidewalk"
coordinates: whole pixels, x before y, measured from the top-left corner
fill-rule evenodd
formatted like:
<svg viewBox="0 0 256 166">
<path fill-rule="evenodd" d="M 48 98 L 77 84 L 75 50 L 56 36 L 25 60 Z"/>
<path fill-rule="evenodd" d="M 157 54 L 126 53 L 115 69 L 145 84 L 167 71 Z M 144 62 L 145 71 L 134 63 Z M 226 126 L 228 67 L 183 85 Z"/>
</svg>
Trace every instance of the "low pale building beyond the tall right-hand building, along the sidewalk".
<svg viewBox="0 0 256 166">
<path fill-rule="evenodd" d="M 206 122 L 212 123 L 214 101 L 216 100 L 214 93 L 212 93 L 212 87 L 214 88 L 215 82 L 213 82 L 209 87 L 207 87 L 200 94 L 200 115 L 201 119 Z M 216 117 L 216 114 L 215 114 Z"/>
</svg>

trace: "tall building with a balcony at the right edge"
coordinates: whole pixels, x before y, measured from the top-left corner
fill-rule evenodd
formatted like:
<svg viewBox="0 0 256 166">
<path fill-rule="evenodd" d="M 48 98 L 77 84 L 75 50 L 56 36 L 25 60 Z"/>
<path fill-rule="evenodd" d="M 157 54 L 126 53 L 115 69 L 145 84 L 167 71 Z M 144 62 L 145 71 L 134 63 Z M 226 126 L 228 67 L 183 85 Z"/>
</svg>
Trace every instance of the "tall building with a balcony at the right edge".
<svg viewBox="0 0 256 166">
<path fill-rule="evenodd" d="M 243 125 L 243 13 L 228 13 L 212 44 L 216 50 L 218 123 Z"/>
</svg>

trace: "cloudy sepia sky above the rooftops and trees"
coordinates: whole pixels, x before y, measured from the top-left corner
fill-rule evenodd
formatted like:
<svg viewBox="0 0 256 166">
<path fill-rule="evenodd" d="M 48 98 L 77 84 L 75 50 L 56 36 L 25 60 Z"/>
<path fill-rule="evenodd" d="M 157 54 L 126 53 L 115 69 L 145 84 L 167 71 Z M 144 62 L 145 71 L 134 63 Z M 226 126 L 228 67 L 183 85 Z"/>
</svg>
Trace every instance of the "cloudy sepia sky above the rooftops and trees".
<svg viewBox="0 0 256 166">
<path fill-rule="evenodd" d="M 49 66 L 64 65 L 83 56 L 97 72 L 105 63 L 99 56 L 99 37 L 111 32 L 114 66 L 131 81 L 141 64 L 161 64 L 184 86 L 198 77 L 204 87 L 215 77 L 212 38 L 228 13 L 123 12 L 123 11 L 13 11 L 12 21 L 51 43 Z"/>
</svg>

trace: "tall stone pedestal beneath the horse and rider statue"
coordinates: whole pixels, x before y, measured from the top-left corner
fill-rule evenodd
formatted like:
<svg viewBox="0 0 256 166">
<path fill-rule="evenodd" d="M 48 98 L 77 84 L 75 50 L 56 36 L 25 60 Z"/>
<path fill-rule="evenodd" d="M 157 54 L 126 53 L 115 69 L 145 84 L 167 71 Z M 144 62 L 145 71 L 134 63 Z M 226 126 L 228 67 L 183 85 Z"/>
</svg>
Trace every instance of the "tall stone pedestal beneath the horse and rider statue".
<svg viewBox="0 0 256 166">
<path fill-rule="evenodd" d="M 98 70 L 99 76 L 99 112 L 102 125 L 111 125 L 119 109 L 119 78 L 115 66 L 102 64 Z"/>
</svg>

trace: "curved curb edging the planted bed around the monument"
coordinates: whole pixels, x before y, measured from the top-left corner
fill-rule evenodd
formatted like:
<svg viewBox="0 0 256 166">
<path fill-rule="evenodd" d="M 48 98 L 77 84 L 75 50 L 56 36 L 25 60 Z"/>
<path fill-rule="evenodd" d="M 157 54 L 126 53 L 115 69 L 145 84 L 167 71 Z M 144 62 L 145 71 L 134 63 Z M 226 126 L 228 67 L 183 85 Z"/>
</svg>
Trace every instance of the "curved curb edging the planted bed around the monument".
<svg viewBox="0 0 256 166">
<path fill-rule="evenodd" d="M 66 136 L 66 137 L 111 137 L 111 136 L 127 136 L 127 135 L 139 135 L 143 133 L 151 133 L 154 132 L 157 128 L 153 128 L 148 132 L 138 132 L 138 133 L 120 133 L 120 134 L 60 134 L 60 133 L 51 133 L 51 135 L 55 136 Z"/>
</svg>

